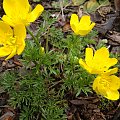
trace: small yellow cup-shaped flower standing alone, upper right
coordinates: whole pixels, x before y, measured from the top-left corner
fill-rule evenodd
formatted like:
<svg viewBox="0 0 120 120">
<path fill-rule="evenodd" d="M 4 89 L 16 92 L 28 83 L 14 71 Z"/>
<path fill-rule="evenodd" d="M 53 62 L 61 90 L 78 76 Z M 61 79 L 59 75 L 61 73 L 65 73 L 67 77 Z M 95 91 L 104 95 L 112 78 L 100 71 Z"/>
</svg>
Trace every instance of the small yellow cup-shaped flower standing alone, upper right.
<svg viewBox="0 0 120 120">
<path fill-rule="evenodd" d="M 79 21 L 78 16 L 76 14 L 72 14 L 70 26 L 76 35 L 85 36 L 93 29 L 95 23 L 91 22 L 90 16 L 88 15 L 82 16 Z"/>
</svg>

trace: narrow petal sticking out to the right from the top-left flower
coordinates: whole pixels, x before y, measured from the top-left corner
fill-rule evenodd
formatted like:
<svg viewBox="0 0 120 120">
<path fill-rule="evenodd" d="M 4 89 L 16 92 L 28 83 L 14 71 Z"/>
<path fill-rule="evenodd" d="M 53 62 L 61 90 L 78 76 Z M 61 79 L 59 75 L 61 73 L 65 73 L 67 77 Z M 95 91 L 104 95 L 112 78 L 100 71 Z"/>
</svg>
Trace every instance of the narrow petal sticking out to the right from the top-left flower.
<svg viewBox="0 0 120 120">
<path fill-rule="evenodd" d="M 38 4 L 35 9 L 28 14 L 28 22 L 34 22 L 43 12 L 44 7 Z"/>
</svg>

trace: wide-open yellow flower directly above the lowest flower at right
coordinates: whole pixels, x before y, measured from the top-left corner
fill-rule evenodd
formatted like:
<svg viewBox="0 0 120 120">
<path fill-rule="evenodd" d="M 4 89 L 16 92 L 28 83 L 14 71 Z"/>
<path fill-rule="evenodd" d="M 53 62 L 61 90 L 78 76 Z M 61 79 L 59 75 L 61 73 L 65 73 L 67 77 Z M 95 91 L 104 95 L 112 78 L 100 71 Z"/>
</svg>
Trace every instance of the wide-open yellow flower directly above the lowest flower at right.
<svg viewBox="0 0 120 120">
<path fill-rule="evenodd" d="M 116 73 L 117 68 L 109 69 L 117 63 L 116 58 L 109 58 L 109 51 L 102 47 L 98 49 L 93 56 L 93 49 L 86 48 L 85 60 L 80 59 L 79 64 L 91 74 L 106 74 Z"/>
</svg>

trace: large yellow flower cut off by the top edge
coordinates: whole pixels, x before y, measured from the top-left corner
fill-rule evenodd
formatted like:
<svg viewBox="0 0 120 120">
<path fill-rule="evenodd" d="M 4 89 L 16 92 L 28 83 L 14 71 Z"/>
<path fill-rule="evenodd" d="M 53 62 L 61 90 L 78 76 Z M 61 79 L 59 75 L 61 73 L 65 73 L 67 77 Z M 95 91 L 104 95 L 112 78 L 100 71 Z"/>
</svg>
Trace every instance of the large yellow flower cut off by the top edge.
<svg viewBox="0 0 120 120">
<path fill-rule="evenodd" d="M 3 9 L 6 15 L 3 15 L 2 20 L 12 27 L 21 23 L 28 26 L 44 10 L 43 6 L 38 4 L 32 11 L 28 0 L 3 0 Z"/>
</svg>

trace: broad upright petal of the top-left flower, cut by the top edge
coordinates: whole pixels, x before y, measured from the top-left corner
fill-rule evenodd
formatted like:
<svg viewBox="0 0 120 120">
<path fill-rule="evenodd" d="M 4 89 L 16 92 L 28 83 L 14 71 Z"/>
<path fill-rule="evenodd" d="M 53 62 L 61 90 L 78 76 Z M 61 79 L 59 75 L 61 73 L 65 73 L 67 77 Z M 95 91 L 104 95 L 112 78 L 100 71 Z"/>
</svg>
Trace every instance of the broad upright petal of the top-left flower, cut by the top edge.
<svg viewBox="0 0 120 120">
<path fill-rule="evenodd" d="M 10 18 L 23 17 L 29 12 L 28 0 L 3 0 L 3 9 Z"/>
</svg>

